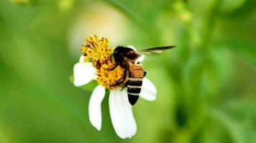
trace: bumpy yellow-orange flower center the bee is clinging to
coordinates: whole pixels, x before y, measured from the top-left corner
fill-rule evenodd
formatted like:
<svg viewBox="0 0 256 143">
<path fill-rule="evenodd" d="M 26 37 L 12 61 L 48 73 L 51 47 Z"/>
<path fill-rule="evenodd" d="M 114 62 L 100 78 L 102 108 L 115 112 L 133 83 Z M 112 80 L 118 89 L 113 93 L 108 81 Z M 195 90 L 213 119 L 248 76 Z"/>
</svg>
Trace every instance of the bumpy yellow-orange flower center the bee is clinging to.
<svg viewBox="0 0 256 143">
<path fill-rule="evenodd" d="M 121 66 L 114 67 L 115 61 L 111 59 L 113 54 L 113 47 L 108 47 L 109 39 L 101 38 L 98 36 L 89 36 L 86 38 L 86 46 L 83 46 L 81 51 L 84 55 L 84 61 L 91 61 L 96 68 L 97 81 L 103 87 L 113 90 L 123 87 L 128 81 L 128 77 L 125 77 L 124 82 L 119 85 L 114 85 L 116 82 L 124 76 L 124 69 Z"/>
</svg>

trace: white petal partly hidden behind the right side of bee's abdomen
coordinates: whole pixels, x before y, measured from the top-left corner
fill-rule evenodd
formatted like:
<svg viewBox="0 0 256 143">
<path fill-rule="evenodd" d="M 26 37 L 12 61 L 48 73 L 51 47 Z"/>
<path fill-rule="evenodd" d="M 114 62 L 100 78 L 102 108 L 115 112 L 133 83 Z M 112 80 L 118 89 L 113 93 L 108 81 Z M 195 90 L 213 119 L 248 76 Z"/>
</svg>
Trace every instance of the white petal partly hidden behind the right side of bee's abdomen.
<svg viewBox="0 0 256 143">
<path fill-rule="evenodd" d="M 153 101 L 156 99 L 157 89 L 155 85 L 150 82 L 149 79 L 144 78 L 142 82 L 142 90 L 140 92 L 140 97 L 147 99 L 149 101 Z"/>
</svg>

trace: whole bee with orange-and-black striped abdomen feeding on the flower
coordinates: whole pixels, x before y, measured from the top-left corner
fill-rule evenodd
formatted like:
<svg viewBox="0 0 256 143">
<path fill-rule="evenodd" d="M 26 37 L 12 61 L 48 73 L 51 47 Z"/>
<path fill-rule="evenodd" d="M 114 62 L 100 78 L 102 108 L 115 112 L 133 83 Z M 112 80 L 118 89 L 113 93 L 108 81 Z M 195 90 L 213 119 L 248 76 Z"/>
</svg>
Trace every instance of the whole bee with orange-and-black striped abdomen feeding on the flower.
<svg viewBox="0 0 256 143">
<path fill-rule="evenodd" d="M 114 49 L 114 53 L 111 54 L 111 57 L 114 56 L 115 65 L 109 70 L 114 70 L 116 66 L 121 66 L 124 69 L 124 76 L 111 86 L 122 84 L 128 74 L 129 79 L 124 87 L 127 87 L 129 103 L 134 105 L 139 99 L 142 88 L 142 80 L 147 74 L 147 72 L 143 69 L 142 64 L 137 62 L 137 59 L 142 56 L 142 54 L 161 54 L 163 50 L 172 49 L 174 47 L 175 46 L 160 46 L 135 51 L 134 49 L 128 47 L 117 46 L 116 49 Z M 122 89 L 124 89 L 124 87 Z"/>
</svg>

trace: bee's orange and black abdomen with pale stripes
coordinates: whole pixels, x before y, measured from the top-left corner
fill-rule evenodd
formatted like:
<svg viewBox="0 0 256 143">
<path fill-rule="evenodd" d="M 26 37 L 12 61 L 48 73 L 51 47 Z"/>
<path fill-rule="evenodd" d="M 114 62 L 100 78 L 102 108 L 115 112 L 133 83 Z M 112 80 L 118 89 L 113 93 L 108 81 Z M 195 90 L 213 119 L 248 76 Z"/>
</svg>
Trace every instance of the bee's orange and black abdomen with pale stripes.
<svg viewBox="0 0 256 143">
<path fill-rule="evenodd" d="M 144 70 L 141 64 L 132 64 L 129 67 L 129 81 L 127 84 L 127 94 L 129 103 L 134 105 L 140 96 Z"/>
</svg>

